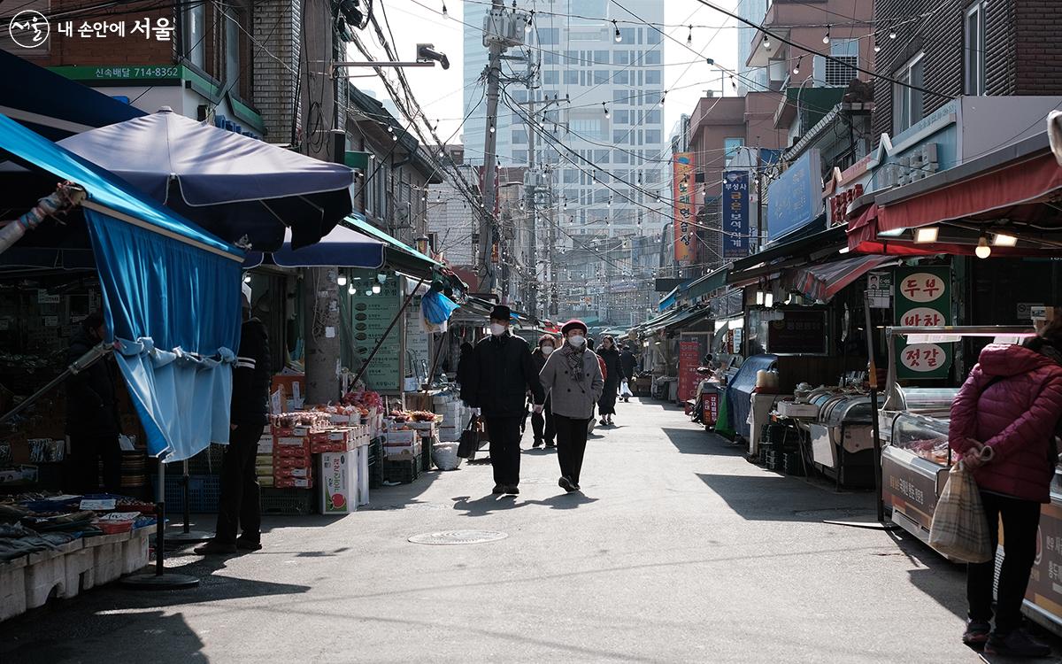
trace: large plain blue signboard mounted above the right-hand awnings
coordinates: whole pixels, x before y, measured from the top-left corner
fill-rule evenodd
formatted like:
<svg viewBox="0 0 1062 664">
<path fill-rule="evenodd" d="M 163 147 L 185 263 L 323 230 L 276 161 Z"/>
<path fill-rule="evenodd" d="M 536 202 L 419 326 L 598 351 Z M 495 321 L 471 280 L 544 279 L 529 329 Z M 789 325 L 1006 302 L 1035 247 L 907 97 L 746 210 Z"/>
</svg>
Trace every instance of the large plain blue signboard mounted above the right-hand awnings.
<svg viewBox="0 0 1062 664">
<path fill-rule="evenodd" d="M 822 159 L 812 148 L 768 187 L 767 239 L 813 221 L 822 211 Z"/>
</svg>

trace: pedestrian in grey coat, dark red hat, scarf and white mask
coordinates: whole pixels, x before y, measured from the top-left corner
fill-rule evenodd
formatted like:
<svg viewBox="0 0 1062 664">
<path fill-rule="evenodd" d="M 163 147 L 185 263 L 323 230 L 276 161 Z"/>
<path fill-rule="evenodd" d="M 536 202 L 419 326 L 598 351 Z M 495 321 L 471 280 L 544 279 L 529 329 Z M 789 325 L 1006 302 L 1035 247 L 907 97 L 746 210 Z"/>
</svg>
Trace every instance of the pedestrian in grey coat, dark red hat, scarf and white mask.
<svg viewBox="0 0 1062 664">
<path fill-rule="evenodd" d="M 570 493 L 579 491 L 587 425 L 594 416 L 594 404 L 601 398 L 604 376 L 598 356 L 586 347 L 586 325 L 582 321 L 568 321 L 561 334 L 565 343 L 546 360 L 541 378 L 552 397 L 556 457 L 561 465 L 558 484 Z"/>
</svg>

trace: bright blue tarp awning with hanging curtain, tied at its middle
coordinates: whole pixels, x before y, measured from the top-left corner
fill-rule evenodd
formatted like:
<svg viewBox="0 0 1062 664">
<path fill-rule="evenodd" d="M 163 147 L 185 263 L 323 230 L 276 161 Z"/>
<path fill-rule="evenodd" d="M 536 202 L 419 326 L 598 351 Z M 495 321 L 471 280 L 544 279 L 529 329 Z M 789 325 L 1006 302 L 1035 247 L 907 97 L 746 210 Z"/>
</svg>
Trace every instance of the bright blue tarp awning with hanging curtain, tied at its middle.
<svg viewBox="0 0 1062 664">
<path fill-rule="evenodd" d="M 149 454 L 179 461 L 227 443 L 243 253 L 2 115 L 0 149 L 88 192 L 108 341 Z"/>
</svg>

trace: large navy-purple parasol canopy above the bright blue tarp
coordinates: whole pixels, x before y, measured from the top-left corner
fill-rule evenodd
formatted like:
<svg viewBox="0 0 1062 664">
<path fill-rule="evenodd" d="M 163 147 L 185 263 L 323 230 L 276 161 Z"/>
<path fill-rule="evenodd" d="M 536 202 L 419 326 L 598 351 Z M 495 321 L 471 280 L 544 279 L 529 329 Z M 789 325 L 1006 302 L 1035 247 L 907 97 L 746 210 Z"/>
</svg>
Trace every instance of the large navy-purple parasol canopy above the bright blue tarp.
<svg viewBox="0 0 1062 664">
<path fill-rule="evenodd" d="M 229 242 L 313 244 L 350 214 L 354 171 L 196 122 L 169 108 L 59 144 Z"/>
</svg>

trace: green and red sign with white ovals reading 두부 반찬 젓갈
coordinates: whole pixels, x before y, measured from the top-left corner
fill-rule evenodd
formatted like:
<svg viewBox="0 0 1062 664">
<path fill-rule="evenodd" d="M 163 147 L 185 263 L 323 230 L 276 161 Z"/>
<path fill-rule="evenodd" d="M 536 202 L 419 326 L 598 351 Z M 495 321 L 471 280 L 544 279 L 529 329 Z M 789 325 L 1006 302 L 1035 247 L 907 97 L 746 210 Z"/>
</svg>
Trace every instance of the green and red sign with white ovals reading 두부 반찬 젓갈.
<svg viewBox="0 0 1062 664">
<path fill-rule="evenodd" d="M 895 322 L 904 327 L 952 324 L 952 269 L 946 266 L 896 268 L 893 280 Z M 946 378 L 952 343 L 907 343 L 896 338 L 896 376 L 902 379 Z"/>
</svg>

